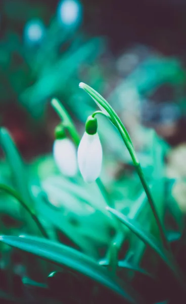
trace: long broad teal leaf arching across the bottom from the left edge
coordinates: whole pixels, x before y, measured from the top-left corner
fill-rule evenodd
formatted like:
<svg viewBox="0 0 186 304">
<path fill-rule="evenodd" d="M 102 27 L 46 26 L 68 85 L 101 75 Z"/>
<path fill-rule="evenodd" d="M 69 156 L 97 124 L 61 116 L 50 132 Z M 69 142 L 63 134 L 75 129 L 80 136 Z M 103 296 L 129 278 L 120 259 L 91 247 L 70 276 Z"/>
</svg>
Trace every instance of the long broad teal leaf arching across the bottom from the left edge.
<svg viewBox="0 0 186 304">
<path fill-rule="evenodd" d="M 125 291 L 120 287 L 120 282 L 111 277 L 96 261 L 70 247 L 49 240 L 28 236 L 1 236 L 0 240 L 7 245 L 79 272 L 111 289 L 129 303 L 139 304 L 142 302 L 141 299 L 136 298 L 136 292 L 132 290 L 130 286 L 125 284 Z"/>
</svg>

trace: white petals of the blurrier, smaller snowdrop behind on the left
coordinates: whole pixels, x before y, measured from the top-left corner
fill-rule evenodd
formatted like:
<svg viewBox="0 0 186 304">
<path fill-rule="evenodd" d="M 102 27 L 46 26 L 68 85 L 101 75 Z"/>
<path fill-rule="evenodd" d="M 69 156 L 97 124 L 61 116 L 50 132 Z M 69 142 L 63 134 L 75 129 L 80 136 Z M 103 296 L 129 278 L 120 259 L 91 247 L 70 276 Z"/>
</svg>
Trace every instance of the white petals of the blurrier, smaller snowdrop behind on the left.
<svg viewBox="0 0 186 304">
<path fill-rule="evenodd" d="M 76 148 L 69 138 L 56 139 L 53 147 L 56 165 L 62 174 L 72 177 L 77 173 Z"/>
</svg>

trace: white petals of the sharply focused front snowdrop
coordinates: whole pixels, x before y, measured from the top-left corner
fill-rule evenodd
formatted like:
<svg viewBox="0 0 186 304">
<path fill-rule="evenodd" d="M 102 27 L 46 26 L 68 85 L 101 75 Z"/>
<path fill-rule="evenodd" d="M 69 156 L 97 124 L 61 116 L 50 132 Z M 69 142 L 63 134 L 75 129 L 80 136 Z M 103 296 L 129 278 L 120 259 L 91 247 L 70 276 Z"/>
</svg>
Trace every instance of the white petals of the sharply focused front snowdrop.
<svg viewBox="0 0 186 304">
<path fill-rule="evenodd" d="M 86 182 L 95 181 L 102 168 L 102 145 L 98 133 L 84 133 L 77 151 L 79 170 Z"/>
</svg>

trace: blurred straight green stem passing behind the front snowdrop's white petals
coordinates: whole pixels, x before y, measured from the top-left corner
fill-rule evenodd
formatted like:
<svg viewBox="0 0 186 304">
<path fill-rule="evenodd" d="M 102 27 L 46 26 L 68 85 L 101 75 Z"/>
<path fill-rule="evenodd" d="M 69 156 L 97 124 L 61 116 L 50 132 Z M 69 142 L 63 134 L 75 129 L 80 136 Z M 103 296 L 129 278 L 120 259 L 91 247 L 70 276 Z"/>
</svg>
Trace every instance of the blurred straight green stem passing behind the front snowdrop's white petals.
<svg viewBox="0 0 186 304">
<path fill-rule="evenodd" d="M 64 106 L 61 104 L 61 102 L 56 98 L 52 99 L 51 105 L 53 106 L 53 108 L 56 110 L 59 117 L 61 118 L 64 127 L 67 128 L 67 130 L 68 130 L 72 140 L 74 141 L 75 145 L 78 146 L 79 142 L 80 142 L 80 136 L 79 136 L 79 134 L 76 130 L 76 127 L 74 126 L 70 116 L 68 115 L 68 112 L 66 111 Z M 113 203 L 110 199 L 110 196 L 109 196 L 109 194 L 107 192 L 107 189 L 105 188 L 105 185 L 103 184 L 102 180 L 100 178 L 97 178 L 96 183 L 97 183 L 97 185 L 100 189 L 100 192 L 103 194 L 104 199 L 108 203 L 108 205 L 110 207 L 113 207 Z"/>
</svg>

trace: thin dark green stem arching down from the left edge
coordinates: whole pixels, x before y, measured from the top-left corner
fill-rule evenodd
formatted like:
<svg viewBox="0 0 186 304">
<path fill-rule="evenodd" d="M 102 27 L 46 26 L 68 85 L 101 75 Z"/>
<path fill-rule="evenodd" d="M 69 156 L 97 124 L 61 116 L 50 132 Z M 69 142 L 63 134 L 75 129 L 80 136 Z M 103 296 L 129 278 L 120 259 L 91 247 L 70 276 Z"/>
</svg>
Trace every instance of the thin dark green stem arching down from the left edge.
<svg viewBox="0 0 186 304">
<path fill-rule="evenodd" d="M 11 195 L 12 197 L 14 197 L 16 200 L 19 201 L 19 203 L 21 204 L 21 206 L 26 209 L 26 211 L 30 214 L 30 216 L 32 217 L 32 219 L 35 221 L 35 223 L 38 226 L 38 229 L 40 230 L 41 234 L 43 235 L 44 238 L 49 239 L 48 234 L 45 232 L 44 227 L 42 226 L 41 222 L 39 221 L 38 217 L 36 216 L 35 212 L 33 210 L 31 210 L 27 204 L 24 202 L 24 200 L 19 196 L 19 194 L 12 188 L 10 188 L 7 185 L 4 184 L 0 184 L 0 191 L 3 191 L 9 195 Z"/>
</svg>

